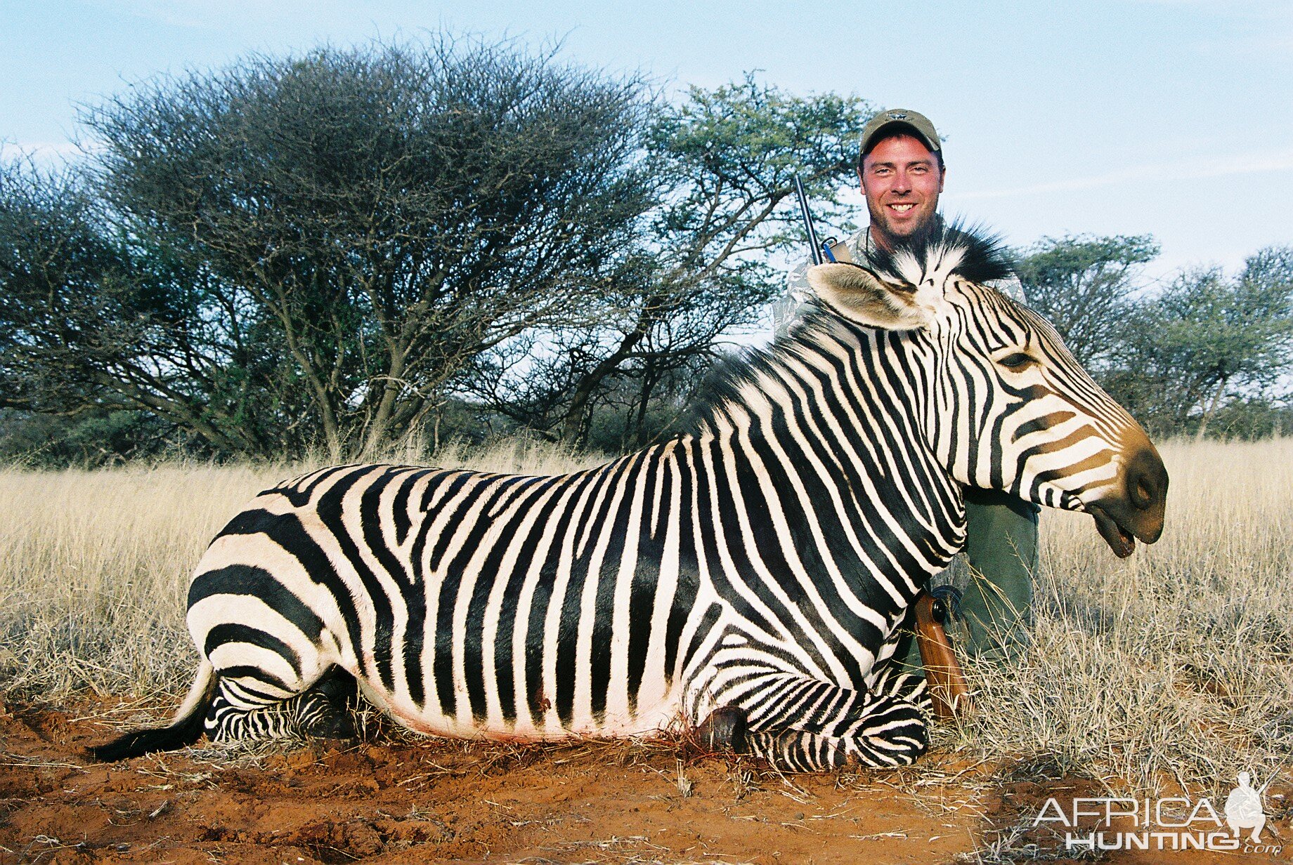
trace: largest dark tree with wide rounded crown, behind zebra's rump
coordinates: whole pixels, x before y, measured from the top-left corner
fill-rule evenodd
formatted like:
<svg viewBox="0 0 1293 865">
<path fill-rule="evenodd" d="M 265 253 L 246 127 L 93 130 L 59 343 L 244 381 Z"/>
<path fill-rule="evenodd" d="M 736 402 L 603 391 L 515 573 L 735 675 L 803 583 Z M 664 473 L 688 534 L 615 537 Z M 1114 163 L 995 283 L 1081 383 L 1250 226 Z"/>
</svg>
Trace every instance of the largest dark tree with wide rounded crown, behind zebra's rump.
<svg viewBox="0 0 1293 865">
<path fill-rule="evenodd" d="M 129 331 L 111 361 L 67 364 L 221 449 L 317 429 L 334 458 L 379 451 L 473 356 L 565 320 L 619 269 L 653 203 L 646 105 L 636 80 L 447 37 L 137 86 L 84 116 L 94 222 L 163 309 L 112 307 L 103 269 L 47 280 Z M 167 279 L 141 283 L 136 260 Z"/>
</svg>

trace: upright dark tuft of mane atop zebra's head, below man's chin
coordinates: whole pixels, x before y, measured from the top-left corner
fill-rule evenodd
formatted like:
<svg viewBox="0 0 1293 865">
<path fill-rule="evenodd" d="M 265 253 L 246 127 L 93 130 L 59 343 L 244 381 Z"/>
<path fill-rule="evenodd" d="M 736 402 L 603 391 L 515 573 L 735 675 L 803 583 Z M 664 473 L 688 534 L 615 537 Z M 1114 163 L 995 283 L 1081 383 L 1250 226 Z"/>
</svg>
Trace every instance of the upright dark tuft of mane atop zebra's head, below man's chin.
<svg viewBox="0 0 1293 865">
<path fill-rule="evenodd" d="M 905 238 L 892 250 L 874 249 L 864 263 L 883 276 L 919 285 L 930 274 L 992 283 L 1015 275 L 1015 261 L 1001 235 L 959 217 L 936 219 L 928 231 Z"/>
</svg>

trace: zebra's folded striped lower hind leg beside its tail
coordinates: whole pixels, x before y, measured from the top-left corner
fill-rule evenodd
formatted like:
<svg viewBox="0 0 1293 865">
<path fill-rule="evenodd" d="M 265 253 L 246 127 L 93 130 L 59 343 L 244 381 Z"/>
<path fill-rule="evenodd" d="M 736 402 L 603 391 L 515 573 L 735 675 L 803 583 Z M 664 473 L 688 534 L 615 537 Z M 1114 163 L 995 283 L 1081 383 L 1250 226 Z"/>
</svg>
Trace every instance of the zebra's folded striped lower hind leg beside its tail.
<svg viewBox="0 0 1293 865">
<path fill-rule="evenodd" d="M 206 729 L 212 741 L 349 740 L 357 736 L 350 714 L 357 700 L 354 678 L 335 667 L 309 691 L 286 700 L 251 689 L 237 679 L 221 679 Z"/>
</svg>

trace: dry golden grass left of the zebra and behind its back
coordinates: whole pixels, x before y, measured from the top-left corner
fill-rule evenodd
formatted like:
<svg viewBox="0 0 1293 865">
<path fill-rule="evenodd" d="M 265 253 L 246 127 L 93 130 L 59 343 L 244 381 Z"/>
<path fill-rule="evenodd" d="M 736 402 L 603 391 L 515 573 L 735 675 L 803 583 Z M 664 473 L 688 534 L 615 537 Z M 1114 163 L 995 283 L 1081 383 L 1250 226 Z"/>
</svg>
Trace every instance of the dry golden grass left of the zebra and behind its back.
<svg viewBox="0 0 1293 865">
<path fill-rule="evenodd" d="M 529 439 L 450 445 L 436 458 L 534 474 L 604 461 Z M 52 700 L 85 689 L 182 696 L 195 662 L 184 626 L 194 565 L 257 492 L 314 467 L 0 471 L 0 688 Z"/>
</svg>

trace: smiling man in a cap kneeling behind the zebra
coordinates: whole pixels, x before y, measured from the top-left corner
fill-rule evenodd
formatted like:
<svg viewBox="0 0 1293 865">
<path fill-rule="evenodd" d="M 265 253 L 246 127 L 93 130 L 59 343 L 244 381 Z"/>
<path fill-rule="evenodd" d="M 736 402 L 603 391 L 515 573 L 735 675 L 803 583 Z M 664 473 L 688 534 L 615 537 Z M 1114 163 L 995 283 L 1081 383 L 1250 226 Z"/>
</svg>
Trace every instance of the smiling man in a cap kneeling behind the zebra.
<svg viewBox="0 0 1293 865">
<path fill-rule="evenodd" d="M 936 225 L 945 176 L 943 142 L 924 115 L 890 110 L 871 117 L 862 129 L 857 158 L 870 225 L 835 244 L 837 258 L 865 262 L 873 249 L 892 249 Z M 806 262 L 790 274 L 790 294 L 778 310 L 778 332 L 787 329 L 798 306 L 812 297 L 807 270 Z M 996 288 L 1023 300 L 1018 280 Z M 967 627 L 967 648 L 979 658 L 1002 661 L 1015 656 L 1025 640 L 1041 509 L 1007 493 L 970 487 L 965 500 L 971 576 L 959 613 Z M 921 667 L 914 639 L 904 639 L 895 657 L 909 667 Z"/>
</svg>

